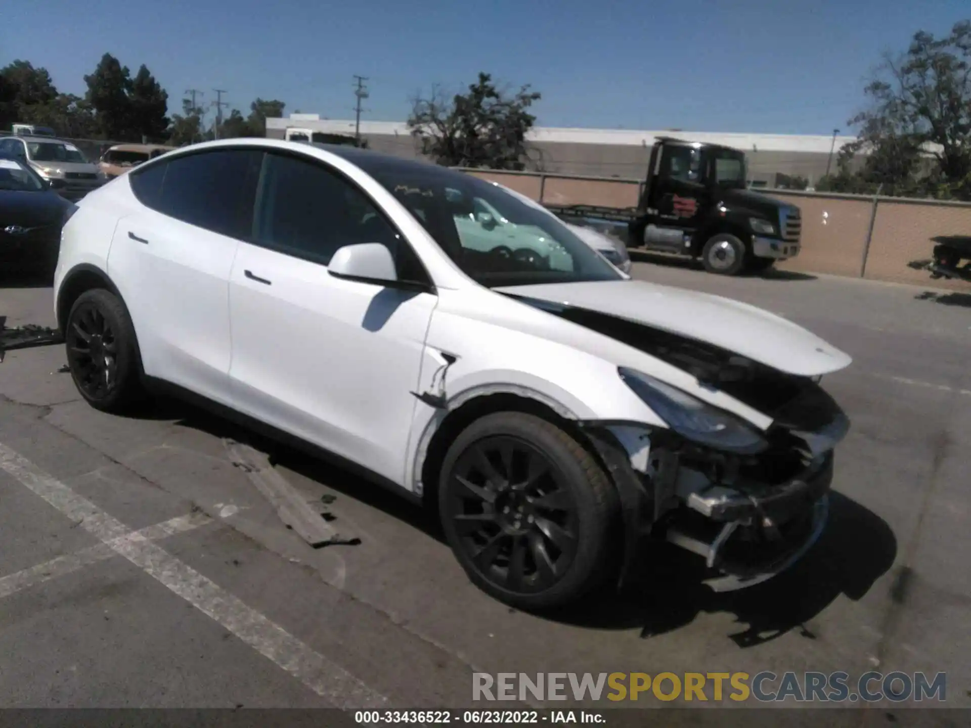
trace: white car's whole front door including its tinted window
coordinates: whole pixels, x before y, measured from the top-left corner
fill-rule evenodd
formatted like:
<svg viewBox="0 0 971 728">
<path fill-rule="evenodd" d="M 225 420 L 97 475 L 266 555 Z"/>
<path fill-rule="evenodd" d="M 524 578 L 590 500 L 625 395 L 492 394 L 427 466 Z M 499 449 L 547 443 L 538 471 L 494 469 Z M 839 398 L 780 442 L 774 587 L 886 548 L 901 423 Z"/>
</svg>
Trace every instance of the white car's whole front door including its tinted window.
<svg viewBox="0 0 971 728">
<path fill-rule="evenodd" d="M 229 286 L 238 410 L 404 481 L 425 334 L 437 296 L 418 257 L 365 193 L 322 162 L 268 153 L 253 240 Z M 409 287 L 342 280 L 346 245 L 382 243 Z"/>
</svg>

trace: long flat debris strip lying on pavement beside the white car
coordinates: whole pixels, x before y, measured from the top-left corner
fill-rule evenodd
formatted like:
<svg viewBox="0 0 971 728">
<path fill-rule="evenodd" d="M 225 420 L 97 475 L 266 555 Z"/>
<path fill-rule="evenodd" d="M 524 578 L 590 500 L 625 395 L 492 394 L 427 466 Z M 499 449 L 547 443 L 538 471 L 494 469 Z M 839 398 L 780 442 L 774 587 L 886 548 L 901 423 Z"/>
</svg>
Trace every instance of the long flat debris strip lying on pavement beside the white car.
<svg viewBox="0 0 971 728">
<path fill-rule="evenodd" d="M 229 438 L 224 438 L 222 442 L 232 464 L 247 474 L 256 489 L 277 510 L 286 527 L 310 546 L 322 548 L 360 544 L 360 539 L 348 538 L 335 531 L 328 520 L 321 517 L 321 513 L 315 511 L 296 488 L 274 470 L 268 455 Z"/>
</svg>

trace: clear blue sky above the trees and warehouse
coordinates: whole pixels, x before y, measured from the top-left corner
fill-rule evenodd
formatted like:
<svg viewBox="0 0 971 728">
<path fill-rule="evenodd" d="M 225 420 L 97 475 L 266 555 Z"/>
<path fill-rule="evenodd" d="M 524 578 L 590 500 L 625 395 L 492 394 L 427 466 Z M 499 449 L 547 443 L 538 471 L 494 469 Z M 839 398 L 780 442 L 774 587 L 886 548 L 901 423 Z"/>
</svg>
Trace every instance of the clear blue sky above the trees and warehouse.
<svg viewBox="0 0 971 728">
<path fill-rule="evenodd" d="M 287 113 L 403 120 L 432 83 L 480 70 L 532 83 L 545 126 L 829 134 L 844 131 L 886 50 L 946 33 L 967 0 L 9 0 L 0 65 L 45 66 L 84 93 L 101 54 L 142 63 L 178 112 L 184 89 L 230 108 L 279 98 Z"/>
</svg>

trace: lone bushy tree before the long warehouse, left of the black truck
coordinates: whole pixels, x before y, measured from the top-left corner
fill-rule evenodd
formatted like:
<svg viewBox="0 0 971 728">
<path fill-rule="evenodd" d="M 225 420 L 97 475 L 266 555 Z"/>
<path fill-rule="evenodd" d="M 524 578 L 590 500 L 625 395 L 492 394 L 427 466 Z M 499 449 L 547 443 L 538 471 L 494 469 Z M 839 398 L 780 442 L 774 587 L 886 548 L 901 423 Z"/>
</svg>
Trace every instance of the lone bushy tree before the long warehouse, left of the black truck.
<svg viewBox="0 0 971 728">
<path fill-rule="evenodd" d="M 454 167 L 521 170 L 525 136 L 536 117 L 529 113 L 540 94 L 523 85 L 503 93 L 489 74 L 480 73 L 468 93 L 451 100 L 437 88 L 413 101 L 408 125 L 424 154 Z"/>
</svg>

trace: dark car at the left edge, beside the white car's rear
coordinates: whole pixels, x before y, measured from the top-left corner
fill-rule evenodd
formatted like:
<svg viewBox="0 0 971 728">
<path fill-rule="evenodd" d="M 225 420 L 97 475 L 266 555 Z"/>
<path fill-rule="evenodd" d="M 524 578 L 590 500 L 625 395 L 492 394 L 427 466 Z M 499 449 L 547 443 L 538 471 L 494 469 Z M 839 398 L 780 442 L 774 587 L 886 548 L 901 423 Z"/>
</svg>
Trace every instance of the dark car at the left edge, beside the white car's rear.
<svg viewBox="0 0 971 728">
<path fill-rule="evenodd" d="M 21 159 L 0 156 L 0 265 L 52 276 L 74 205 Z"/>
</svg>

